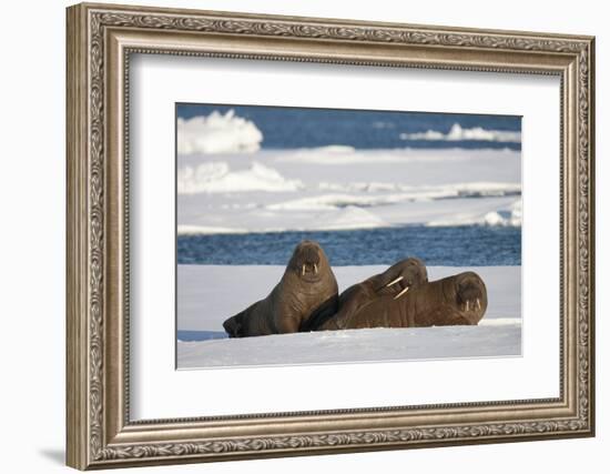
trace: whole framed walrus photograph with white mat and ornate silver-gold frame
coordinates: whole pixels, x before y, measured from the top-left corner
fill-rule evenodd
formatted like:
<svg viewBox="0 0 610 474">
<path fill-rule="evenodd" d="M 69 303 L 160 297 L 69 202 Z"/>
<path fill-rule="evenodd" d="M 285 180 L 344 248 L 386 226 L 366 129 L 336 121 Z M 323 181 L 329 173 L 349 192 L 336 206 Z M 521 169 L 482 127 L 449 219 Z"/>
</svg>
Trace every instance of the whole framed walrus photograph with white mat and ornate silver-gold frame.
<svg viewBox="0 0 610 474">
<path fill-rule="evenodd" d="M 593 38 L 67 23 L 70 466 L 594 434 Z"/>
</svg>

